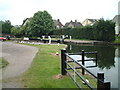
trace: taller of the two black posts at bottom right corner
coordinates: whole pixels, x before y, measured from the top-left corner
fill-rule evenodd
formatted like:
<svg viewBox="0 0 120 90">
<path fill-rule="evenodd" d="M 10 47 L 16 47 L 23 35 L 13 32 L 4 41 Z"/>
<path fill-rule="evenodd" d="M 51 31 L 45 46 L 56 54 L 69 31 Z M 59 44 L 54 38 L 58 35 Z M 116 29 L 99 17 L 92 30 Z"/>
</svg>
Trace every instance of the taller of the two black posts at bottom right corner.
<svg viewBox="0 0 120 90">
<path fill-rule="evenodd" d="M 104 88 L 104 73 L 103 72 L 99 72 L 97 73 L 97 90 L 103 90 Z"/>
</svg>

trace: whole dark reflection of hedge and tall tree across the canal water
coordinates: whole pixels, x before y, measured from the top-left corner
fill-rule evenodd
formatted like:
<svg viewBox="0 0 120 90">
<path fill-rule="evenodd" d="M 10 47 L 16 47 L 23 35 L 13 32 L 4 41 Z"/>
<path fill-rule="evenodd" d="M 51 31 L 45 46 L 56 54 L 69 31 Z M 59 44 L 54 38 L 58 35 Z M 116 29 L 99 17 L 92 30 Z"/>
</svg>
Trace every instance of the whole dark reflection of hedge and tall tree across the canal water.
<svg viewBox="0 0 120 90">
<path fill-rule="evenodd" d="M 72 47 L 72 48 L 71 48 Z M 75 44 L 68 44 L 68 52 L 80 52 L 85 50 L 86 52 L 98 51 L 98 67 L 100 69 L 110 69 L 115 67 L 115 48 L 113 46 L 81 46 Z M 116 51 L 116 53 L 119 50 Z M 117 53 L 118 54 L 118 53 Z M 94 55 L 86 55 L 87 58 L 95 58 Z"/>
</svg>

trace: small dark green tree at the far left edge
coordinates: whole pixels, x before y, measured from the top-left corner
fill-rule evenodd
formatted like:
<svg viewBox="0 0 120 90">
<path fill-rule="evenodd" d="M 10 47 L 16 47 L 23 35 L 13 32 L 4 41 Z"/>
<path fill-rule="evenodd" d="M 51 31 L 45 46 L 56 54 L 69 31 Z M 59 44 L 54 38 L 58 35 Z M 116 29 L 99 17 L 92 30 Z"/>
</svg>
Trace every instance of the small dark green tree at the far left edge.
<svg viewBox="0 0 120 90">
<path fill-rule="evenodd" d="M 9 20 L 6 20 L 3 24 L 2 24 L 2 33 L 3 34 L 10 34 L 11 33 L 11 28 L 13 26 L 11 25 L 11 22 Z"/>
</svg>

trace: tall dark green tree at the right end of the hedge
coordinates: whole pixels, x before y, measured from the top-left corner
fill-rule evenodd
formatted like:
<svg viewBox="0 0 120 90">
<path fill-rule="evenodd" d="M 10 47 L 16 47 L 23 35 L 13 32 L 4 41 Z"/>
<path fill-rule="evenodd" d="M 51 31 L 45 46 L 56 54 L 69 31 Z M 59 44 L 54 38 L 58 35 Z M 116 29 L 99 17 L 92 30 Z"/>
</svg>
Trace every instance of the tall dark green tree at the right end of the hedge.
<svg viewBox="0 0 120 90">
<path fill-rule="evenodd" d="M 115 40 L 115 23 L 110 20 L 100 19 L 94 24 L 94 34 L 96 40 L 114 41 Z"/>
</svg>

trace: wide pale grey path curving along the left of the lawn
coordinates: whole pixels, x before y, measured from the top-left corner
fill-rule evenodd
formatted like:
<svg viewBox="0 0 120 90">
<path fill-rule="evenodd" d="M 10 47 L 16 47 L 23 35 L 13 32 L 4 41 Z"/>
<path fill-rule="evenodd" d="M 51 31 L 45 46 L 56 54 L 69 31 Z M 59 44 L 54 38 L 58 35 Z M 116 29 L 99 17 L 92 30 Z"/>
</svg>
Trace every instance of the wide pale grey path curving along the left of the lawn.
<svg viewBox="0 0 120 90">
<path fill-rule="evenodd" d="M 38 49 L 32 46 L 2 42 L 2 52 L 0 54 L 2 53 L 2 57 L 9 62 L 9 65 L 2 70 L 2 79 L 6 80 L 23 74 L 30 67 L 37 52 Z M 2 85 L 4 88 L 17 87 L 13 81 Z"/>
</svg>

